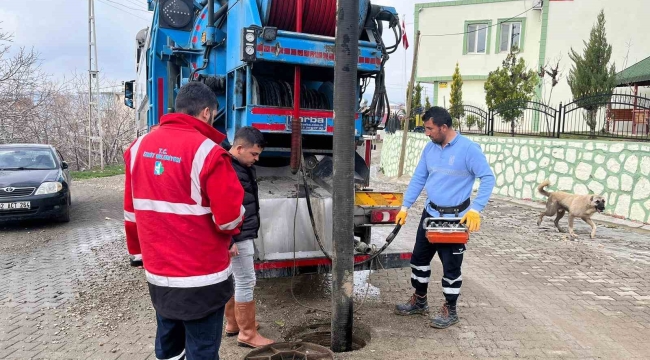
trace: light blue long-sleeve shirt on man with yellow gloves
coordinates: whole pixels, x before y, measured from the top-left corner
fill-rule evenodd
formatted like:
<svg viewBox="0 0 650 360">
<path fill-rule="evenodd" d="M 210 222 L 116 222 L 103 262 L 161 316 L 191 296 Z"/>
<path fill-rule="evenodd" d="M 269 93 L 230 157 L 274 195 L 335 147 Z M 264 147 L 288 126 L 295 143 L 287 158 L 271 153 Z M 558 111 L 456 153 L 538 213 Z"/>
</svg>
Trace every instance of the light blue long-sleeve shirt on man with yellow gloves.
<svg viewBox="0 0 650 360">
<path fill-rule="evenodd" d="M 476 178 L 481 181 L 478 195 L 459 216 L 470 209 L 483 210 L 494 188 L 494 174 L 481 147 L 472 140 L 457 134 L 444 148 L 430 142 L 422 151 L 402 206 L 410 208 L 422 189 L 426 189 L 426 210 L 432 217 L 439 217 L 440 214 L 431 208 L 430 202 L 441 207 L 462 204 L 472 194 Z"/>
</svg>

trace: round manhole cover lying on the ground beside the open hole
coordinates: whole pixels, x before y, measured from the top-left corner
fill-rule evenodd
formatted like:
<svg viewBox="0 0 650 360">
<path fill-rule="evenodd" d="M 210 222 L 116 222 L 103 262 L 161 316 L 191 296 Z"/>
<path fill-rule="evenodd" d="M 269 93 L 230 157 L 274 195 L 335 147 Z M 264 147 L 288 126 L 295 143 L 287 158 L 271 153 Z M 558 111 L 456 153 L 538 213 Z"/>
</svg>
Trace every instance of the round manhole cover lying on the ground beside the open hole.
<svg viewBox="0 0 650 360">
<path fill-rule="evenodd" d="M 307 342 L 275 343 L 255 349 L 244 360 L 332 360 L 334 353 L 323 346 Z"/>
</svg>

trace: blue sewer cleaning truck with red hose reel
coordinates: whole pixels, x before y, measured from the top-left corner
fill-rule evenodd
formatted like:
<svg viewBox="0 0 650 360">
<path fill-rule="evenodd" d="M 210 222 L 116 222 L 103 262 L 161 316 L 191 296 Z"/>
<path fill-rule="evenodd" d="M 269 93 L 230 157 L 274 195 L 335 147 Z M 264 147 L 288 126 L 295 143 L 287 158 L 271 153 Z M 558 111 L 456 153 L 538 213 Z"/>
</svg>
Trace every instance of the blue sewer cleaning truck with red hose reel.
<svg viewBox="0 0 650 360">
<path fill-rule="evenodd" d="M 394 8 L 361 0 L 358 110 L 354 137 L 355 269 L 408 266 L 410 248 L 394 240 L 399 192 L 369 188 L 373 143 L 390 112 L 385 66 L 402 28 Z M 214 127 L 264 133 L 256 164 L 261 228 L 259 277 L 328 272 L 332 249 L 332 147 L 336 0 L 148 0 L 149 27 L 136 35 L 135 80 L 125 104 L 137 136 L 174 111 L 179 88 L 201 81 L 215 92 Z M 384 43 L 384 38 L 389 39 Z M 366 94 L 368 86 L 373 94 Z M 371 96 L 364 101 L 364 95 Z M 298 119 L 296 121 L 296 119 Z M 391 232 L 393 230 L 393 232 Z M 388 239 L 388 241 L 387 241 Z M 390 246 L 388 246 L 390 245 Z"/>
</svg>

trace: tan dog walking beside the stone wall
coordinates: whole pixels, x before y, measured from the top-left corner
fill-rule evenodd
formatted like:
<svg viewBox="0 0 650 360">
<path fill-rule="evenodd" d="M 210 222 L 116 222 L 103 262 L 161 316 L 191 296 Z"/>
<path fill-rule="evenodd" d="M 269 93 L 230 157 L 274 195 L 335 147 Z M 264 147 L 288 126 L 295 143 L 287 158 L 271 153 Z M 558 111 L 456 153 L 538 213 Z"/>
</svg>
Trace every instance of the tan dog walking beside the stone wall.
<svg viewBox="0 0 650 360">
<path fill-rule="evenodd" d="M 598 195 L 576 195 L 569 194 L 564 191 L 555 191 L 548 192 L 545 187 L 551 184 L 550 181 L 544 180 L 537 187 L 537 191 L 540 194 L 548 197 L 546 201 L 546 211 L 542 212 L 537 220 L 537 226 L 542 223 L 544 216 L 553 216 L 555 217 L 555 227 L 560 232 L 564 232 L 560 228 L 559 222 L 560 219 L 564 216 L 565 212 L 569 212 L 569 235 L 571 237 L 577 237 L 573 232 L 573 219 L 581 218 L 584 222 L 591 226 L 591 238 L 593 239 L 596 236 L 596 224 L 591 220 L 591 216 L 596 212 L 602 212 L 605 210 L 605 198 Z"/>
</svg>

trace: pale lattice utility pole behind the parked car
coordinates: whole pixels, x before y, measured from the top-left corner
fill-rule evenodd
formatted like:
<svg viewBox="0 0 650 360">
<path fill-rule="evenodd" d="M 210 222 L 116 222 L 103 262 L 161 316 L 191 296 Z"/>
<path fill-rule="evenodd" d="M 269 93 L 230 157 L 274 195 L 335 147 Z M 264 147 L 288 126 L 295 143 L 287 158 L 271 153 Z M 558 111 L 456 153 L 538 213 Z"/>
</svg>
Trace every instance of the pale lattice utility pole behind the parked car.
<svg viewBox="0 0 650 360">
<path fill-rule="evenodd" d="M 88 0 L 88 168 L 92 168 L 93 143 L 99 142 L 99 162 L 104 170 L 104 141 L 99 109 L 99 67 L 97 65 L 97 33 L 95 31 L 95 0 Z M 93 126 L 97 136 L 93 136 Z"/>
</svg>

